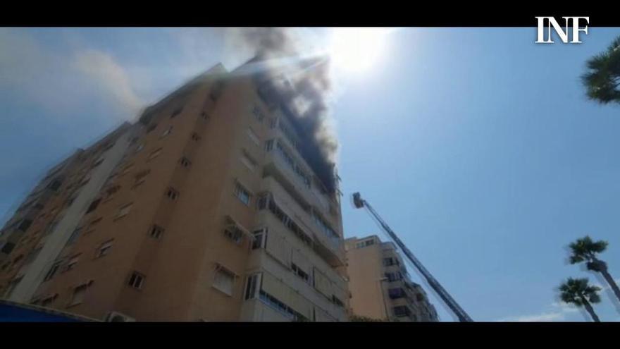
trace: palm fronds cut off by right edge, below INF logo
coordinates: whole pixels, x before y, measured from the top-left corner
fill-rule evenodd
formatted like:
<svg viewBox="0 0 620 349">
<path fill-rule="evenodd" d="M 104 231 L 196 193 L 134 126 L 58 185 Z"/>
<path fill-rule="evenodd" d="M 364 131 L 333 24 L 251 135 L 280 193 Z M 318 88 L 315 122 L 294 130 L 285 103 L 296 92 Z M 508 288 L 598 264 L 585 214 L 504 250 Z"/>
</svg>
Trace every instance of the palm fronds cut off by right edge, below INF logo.
<svg viewBox="0 0 620 349">
<path fill-rule="evenodd" d="M 620 37 L 607 51 L 597 54 L 586 63 L 588 70 L 581 75 L 588 98 L 599 103 L 620 103 Z"/>
</svg>

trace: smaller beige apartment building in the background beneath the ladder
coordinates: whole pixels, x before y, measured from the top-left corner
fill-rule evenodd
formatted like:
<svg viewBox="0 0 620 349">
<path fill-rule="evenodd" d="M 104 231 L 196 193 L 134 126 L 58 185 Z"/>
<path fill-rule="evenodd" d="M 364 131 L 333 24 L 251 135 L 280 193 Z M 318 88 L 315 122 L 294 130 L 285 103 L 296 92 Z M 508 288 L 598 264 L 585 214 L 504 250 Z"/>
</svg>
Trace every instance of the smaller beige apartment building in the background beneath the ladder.
<svg viewBox="0 0 620 349">
<path fill-rule="evenodd" d="M 426 292 L 411 281 L 391 242 L 376 235 L 345 240 L 352 314 L 397 322 L 436 322 Z"/>
</svg>

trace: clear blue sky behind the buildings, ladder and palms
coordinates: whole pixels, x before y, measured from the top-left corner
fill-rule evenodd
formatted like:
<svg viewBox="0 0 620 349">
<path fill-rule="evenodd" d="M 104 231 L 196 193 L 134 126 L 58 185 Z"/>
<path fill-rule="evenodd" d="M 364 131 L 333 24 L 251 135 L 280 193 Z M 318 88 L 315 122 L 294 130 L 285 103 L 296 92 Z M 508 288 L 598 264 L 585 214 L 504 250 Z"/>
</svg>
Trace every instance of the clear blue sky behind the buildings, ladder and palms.
<svg viewBox="0 0 620 349">
<path fill-rule="evenodd" d="M 0 215 L 44 169 L 213 64 L 242 60 L 224 30 L 1 29 Z M 340 77 L 345 235 L 377 233 L 360 191 L 478 321 L 583 321 L 559 305 L 566 245 L 589 233 L 620 278 L 620 108 L 585 99 L 583 44 L 535 28 L 404 28 L 370 71 Z M 414 278 L 418 278 L 415 273 Z M 619 321 L 609 295 L 595 310 Z M 435 299 L 443 320 L 452 320 Z"/>
</svg>

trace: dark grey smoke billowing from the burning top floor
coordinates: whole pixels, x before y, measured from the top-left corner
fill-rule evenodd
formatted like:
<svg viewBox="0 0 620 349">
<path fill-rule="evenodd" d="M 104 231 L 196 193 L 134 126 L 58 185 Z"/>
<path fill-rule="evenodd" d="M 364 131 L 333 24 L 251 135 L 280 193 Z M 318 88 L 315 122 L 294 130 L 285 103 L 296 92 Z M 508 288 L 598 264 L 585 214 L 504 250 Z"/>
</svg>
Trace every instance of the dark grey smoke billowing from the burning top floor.
<svg viewBox="0 0 620 349">
<path fill-rule="evenodd" d="M 330 61 L 300 32 L 291 28 L 261 27 L 232 30 L 235 46 L 252 51 L 261 64 L 263 79 L 285 109 L 292 111 L 304 142 L 302 152 L 328 190 L 333 190 L 333 164 L 338 149 L 330 123 L 332 78 Z M 309 144 L 308 144 L 309 143 Z M 313 144 L 316 149 L 313 148 Z"/>
</svg>

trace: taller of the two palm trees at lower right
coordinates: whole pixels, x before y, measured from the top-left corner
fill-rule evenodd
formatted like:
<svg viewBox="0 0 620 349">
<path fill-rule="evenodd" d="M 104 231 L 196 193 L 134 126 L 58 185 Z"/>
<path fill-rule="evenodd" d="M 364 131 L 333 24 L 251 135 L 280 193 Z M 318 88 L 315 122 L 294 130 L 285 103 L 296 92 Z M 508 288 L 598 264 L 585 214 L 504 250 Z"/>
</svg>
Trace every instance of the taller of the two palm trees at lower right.
<svg viewBox="0 0 620 349">
<path fill-rule="evenodd" d="M 569 245 L 573 254 L 571 255 L 571 264 L 587 262 L 585 267 L 591 271 L 598 271 L 602 274 L 605 281 L 609 283 L 609 287 L 612 288 L 618 300 L 620 300 L 620 288 L 616 285 L 614 278 L 612 278 L 609 271 L 607 271 L 607 263 L 596 257 L 597 253 L 605 251 L 607 248 L 607 241 L 596 241 L 594 242 L 590 236 L 585 236 L 585 238 L 577 239 L 574 243 Z"/>
</svg>

